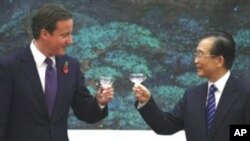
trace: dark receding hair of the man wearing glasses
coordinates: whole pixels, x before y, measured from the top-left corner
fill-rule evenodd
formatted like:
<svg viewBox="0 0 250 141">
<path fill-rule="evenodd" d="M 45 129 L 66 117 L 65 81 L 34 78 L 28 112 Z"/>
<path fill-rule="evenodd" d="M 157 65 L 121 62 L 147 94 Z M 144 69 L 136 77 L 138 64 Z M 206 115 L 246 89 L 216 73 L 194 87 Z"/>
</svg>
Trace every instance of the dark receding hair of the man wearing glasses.
<svg viewBox="0 0 250 141">
<path fill-rule="evenodd" d="M 205 38 L 215 39 L 210 54 L 223 56 L 225 60 L 225 68 L 230 69 L 235 58 L 235 42 L 233 37 L 225 31 L 209 31 L 203 35 L 202 39 Z"/>
</svg>

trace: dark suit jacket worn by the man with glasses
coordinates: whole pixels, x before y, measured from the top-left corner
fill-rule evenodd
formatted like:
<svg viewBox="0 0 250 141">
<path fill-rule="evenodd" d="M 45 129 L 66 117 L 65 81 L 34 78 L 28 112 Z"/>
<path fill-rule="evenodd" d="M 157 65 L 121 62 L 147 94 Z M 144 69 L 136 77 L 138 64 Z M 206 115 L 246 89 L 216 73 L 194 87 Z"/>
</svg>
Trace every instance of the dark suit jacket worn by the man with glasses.
<svg viewBox="0 0 250 141">
<path fill-rule="evenodd" d="M 158 134 L 170 135 L 185 130 L 187 141 L 229 141 L 229 125 L 250 124 L 249 85 L 233 75 L 229 77 L 208 136 L 205 125 L 207 86 L 203 83 L 188 89 L 170 112 L 160 110 L 153 98 L 139 112 Z"/>
</svg>

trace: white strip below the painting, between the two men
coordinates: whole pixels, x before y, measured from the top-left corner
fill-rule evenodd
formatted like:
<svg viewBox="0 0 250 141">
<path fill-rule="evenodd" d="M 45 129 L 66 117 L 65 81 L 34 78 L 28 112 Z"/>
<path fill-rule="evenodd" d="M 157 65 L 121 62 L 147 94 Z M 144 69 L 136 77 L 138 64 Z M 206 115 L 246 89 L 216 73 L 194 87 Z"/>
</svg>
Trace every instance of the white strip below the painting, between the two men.
<svg viewBox="0 0 250 141">
<path fill-rule="evenodd" d="M 186 141 L 184 131 L 157 135 L 152 130 L 69 130 L 70 141 Z"/>
</svg>

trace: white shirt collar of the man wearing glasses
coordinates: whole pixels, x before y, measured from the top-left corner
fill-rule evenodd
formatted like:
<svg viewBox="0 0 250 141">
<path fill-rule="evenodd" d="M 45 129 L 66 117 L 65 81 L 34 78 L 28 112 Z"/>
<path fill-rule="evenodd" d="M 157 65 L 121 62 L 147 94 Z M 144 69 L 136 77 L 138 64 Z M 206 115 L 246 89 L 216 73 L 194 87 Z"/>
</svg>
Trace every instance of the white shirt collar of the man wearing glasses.
<svg viewBox="0 0 250 141">
<path fill-rule="evenodd" d="M 214 85 L 217 87 L 218 91 L 219 91 L 220 93 L 222 93 L 223 90 L 224 90 L 224 88 L 225 88 L 225 85 L 226 85 L 226 83 L 227 83 L 227 80 L 228 80 L 230 74 L 231 74 L 231 72 L 230 72 L 230 71 L 227 71 L 227 73 L 224 74 L 224 75 L 223 75 L 219 80 L 217 80 L 216 82 L 214 82 L 214 83 L 208 82 L 208 86 L 210 87 L 212 84 L 214 84 Z"/>
</svg>

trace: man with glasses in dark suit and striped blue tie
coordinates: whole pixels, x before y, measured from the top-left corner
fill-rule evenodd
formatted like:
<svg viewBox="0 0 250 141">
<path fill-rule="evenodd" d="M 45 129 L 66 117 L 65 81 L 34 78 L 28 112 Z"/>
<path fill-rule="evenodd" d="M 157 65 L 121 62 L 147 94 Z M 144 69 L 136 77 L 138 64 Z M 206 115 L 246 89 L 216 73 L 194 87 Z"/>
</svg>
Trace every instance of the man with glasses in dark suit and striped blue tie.
<svg viewBox="0 0 250 141">
<path fill-rule="evenodd" d="M 250 85 L 230 72 L 234 57 L 235 42 L 229 34 L 207 33 L 194 63 L 197 75 L 208 82 L 186 90 L 170 112 L 156 105 L 145 86 L 135 85 L 138 111 L 158 134 L 185 130 L 187 141 L 229 141 L 231 124 L 250 124 Z"/>
</svg>

